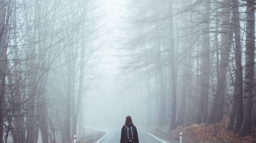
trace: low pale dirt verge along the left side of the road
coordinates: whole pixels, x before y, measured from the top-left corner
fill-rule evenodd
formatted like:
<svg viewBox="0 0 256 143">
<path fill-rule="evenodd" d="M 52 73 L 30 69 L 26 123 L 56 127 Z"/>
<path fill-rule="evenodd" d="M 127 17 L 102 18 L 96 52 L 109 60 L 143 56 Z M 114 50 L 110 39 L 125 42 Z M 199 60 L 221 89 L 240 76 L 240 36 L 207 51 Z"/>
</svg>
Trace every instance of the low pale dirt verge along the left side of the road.
<svg viewBox="0 0 256 143">
<path fill-rule="evenodd" d="M 103 131 L 86 129 L 85 135 L 83 137 L 77 138 L 76 142 L 77 143 L 96 143 L 104 135 L 105 135 L 105 132 L 103 132 Z"/>
</svg>

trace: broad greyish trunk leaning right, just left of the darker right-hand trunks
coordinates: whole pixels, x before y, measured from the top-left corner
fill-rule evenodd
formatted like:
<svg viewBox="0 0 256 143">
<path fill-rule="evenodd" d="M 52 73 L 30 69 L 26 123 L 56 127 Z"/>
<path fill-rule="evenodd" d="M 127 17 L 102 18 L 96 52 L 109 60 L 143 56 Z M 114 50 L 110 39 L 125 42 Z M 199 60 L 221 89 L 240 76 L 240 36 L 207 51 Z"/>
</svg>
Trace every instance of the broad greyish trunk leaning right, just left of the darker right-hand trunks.
<svg viewBox="0 0 256 143">
<path fill-rule="evenodd" d="M 222 10 L 222 36 L 221 36 L 221 61 L 219 65 L 219 72 L 217 75 L 217 88 L 216 95 L 214 95 L 213 106 L 209 115 L 208 123 L 216 123 L 222 121 L 224 114 L 224 99 L 226 92 L 226 80 L 227 80 L 227 67 L 229 65 L 229 54 L 232 44 L 232 32 L 230 26 L 230 15 L 228 11 L 230 7 L 230 0 L 224 0 L 225 7 Z"/>
</svg>

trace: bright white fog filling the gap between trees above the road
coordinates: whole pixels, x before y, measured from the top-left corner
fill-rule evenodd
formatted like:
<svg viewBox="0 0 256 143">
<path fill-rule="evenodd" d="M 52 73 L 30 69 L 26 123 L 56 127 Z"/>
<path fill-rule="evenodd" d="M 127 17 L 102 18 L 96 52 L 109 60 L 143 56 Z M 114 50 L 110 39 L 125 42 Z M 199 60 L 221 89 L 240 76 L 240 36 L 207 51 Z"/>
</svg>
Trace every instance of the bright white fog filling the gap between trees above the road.
<svg viewBox="0 0 256 143">
<path fill-rule="evenodd" d="M 125 117 L 130 115 L 134 124 L 145 126 L 148 117 L 148 99 L 145 85 L 140 81 L 129 81 L 129 78 L 122 63 L 122 56 L 125 56 L 128 44 L 126 39 L 120 40 L 118 35 L 126 33 L 124 28 L 130 28 L 131 23 L 125 16 L 125 1 L 104 1 L 106 5 L 106 25 L 108 29 L 104 44 L 106 51 L 102 56 L 104 64 L 98 66 L 102 72 L 102 77 L 97 83 L 97 88 L 88 91 L 89 101 L 85 101 L 85 124 L 88 126 L 116 126 L 122 127 Z M 127 26 L 128 27 L 125 27 Z M 128 33 L 123 35 L 129 38 Z M 109 44 L 109 45 L 108 45 Z M 121 50 L 120 50 L 121 49 Z M 122 50 L 123 49 L 123 50 Z"/>
</svg>

